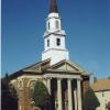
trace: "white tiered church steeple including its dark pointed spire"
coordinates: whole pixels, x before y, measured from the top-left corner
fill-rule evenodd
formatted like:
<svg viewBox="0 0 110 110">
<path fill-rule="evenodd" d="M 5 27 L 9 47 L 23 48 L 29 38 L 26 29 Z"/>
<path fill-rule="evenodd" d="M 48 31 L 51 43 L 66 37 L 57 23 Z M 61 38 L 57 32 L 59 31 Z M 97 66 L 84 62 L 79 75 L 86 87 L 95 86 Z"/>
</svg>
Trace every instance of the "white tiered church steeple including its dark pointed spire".
<svg viewBox="0 0 110 110">
<path fill-rule="evenodd" d="M 51 58 L 51 65 L 69 58 L 65 47 L 66 33 L 62 30 L 61 21 L 56 0 L 52 0 L 50 14 L 46 19 L 46 31 L 43 36 L 44 52 L 42 53 L 42 61 Z"/>
</svg>

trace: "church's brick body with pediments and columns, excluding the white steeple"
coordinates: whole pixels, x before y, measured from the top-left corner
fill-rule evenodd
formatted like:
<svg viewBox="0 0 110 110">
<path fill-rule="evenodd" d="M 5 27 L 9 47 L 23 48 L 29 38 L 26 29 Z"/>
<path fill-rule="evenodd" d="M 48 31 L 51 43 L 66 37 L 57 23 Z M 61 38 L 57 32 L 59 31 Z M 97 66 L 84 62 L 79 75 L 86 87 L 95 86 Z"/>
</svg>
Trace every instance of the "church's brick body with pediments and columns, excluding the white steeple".
<svg viewBox="0 0 110 110">
<path fill-rule="evenodd" d="M 45 110 L 82 110 L 82 97 L 89 85 L 88 73 L 70 61 L 53 66 L 48 66 L 48 59 L 40 62 L 11 76 L 13 85 L 21 85 L 18 87 L 21 95 L 19 110 L 33 110 L 29 97 L 31 84 L 36 80 L 44 82 L 51 96 Z"/>
</svg>

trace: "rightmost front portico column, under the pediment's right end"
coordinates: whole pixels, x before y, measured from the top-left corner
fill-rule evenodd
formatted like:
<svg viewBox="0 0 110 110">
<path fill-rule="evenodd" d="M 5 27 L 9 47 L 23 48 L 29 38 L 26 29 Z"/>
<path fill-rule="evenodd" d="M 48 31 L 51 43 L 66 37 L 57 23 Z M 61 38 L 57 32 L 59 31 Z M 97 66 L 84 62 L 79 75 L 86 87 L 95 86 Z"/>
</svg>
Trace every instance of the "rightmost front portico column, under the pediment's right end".
<svg viewBox="0 0 110 110">
<path fill-rule="evenodd" d="M 80 79 L 77 79 L 77 98 L 78 98 L 78 110 L 82 110 L 82 108 L 81 108 L 81 87 L 80 87 Z"/>
</svg>

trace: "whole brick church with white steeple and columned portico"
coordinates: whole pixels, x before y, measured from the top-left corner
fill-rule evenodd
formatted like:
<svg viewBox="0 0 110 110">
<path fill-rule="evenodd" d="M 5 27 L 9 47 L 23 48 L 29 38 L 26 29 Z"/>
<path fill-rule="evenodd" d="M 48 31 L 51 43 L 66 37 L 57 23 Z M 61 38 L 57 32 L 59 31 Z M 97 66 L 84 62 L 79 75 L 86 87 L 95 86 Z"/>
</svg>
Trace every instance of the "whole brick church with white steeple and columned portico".
<svg viewBox="0 0 110 110">
<path fill-rule="evenodd" d="M 43 38 L 42 61 L 10 75 L 18 92 L 19 110 L 33 110 L 31 91 L 36 80 L 44 82 L 51 96 L 47 110 L 82 110 L 89 73 L 69 59 L 56 0 L 51 0 Z"/>
</svg>

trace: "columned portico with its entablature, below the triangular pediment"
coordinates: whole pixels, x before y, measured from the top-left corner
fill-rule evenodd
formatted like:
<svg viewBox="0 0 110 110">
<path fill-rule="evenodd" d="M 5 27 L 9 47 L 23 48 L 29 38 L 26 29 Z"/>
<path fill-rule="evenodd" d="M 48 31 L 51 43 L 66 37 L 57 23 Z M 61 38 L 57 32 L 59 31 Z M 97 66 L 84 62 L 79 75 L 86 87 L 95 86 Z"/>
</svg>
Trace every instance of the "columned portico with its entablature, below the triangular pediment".
<svg viewBox="0 0 110 110">
<path fill-rule="evenodd" d="M 46 81 L 46 86 L 51 96 L 53 95 L 52 82 L 53 80 L 56 81 L 56 89 L 55 89 L 56 96 L 54 96 L 55 110 L 81 110 L 81 87 L 80 87 L 81 77 L 80 75 L 74 76 L 74 75 L 61 75 L 61 74 L 57 74 L 57 75 L 46 74 L 44 75 L 44 79 Z M 65 91 L 63 88 L 64 81 L 67 85 Z M 65 92 L 64 94 L 65 96 L 63 96 L 63 92 Z"/>
</svg>

